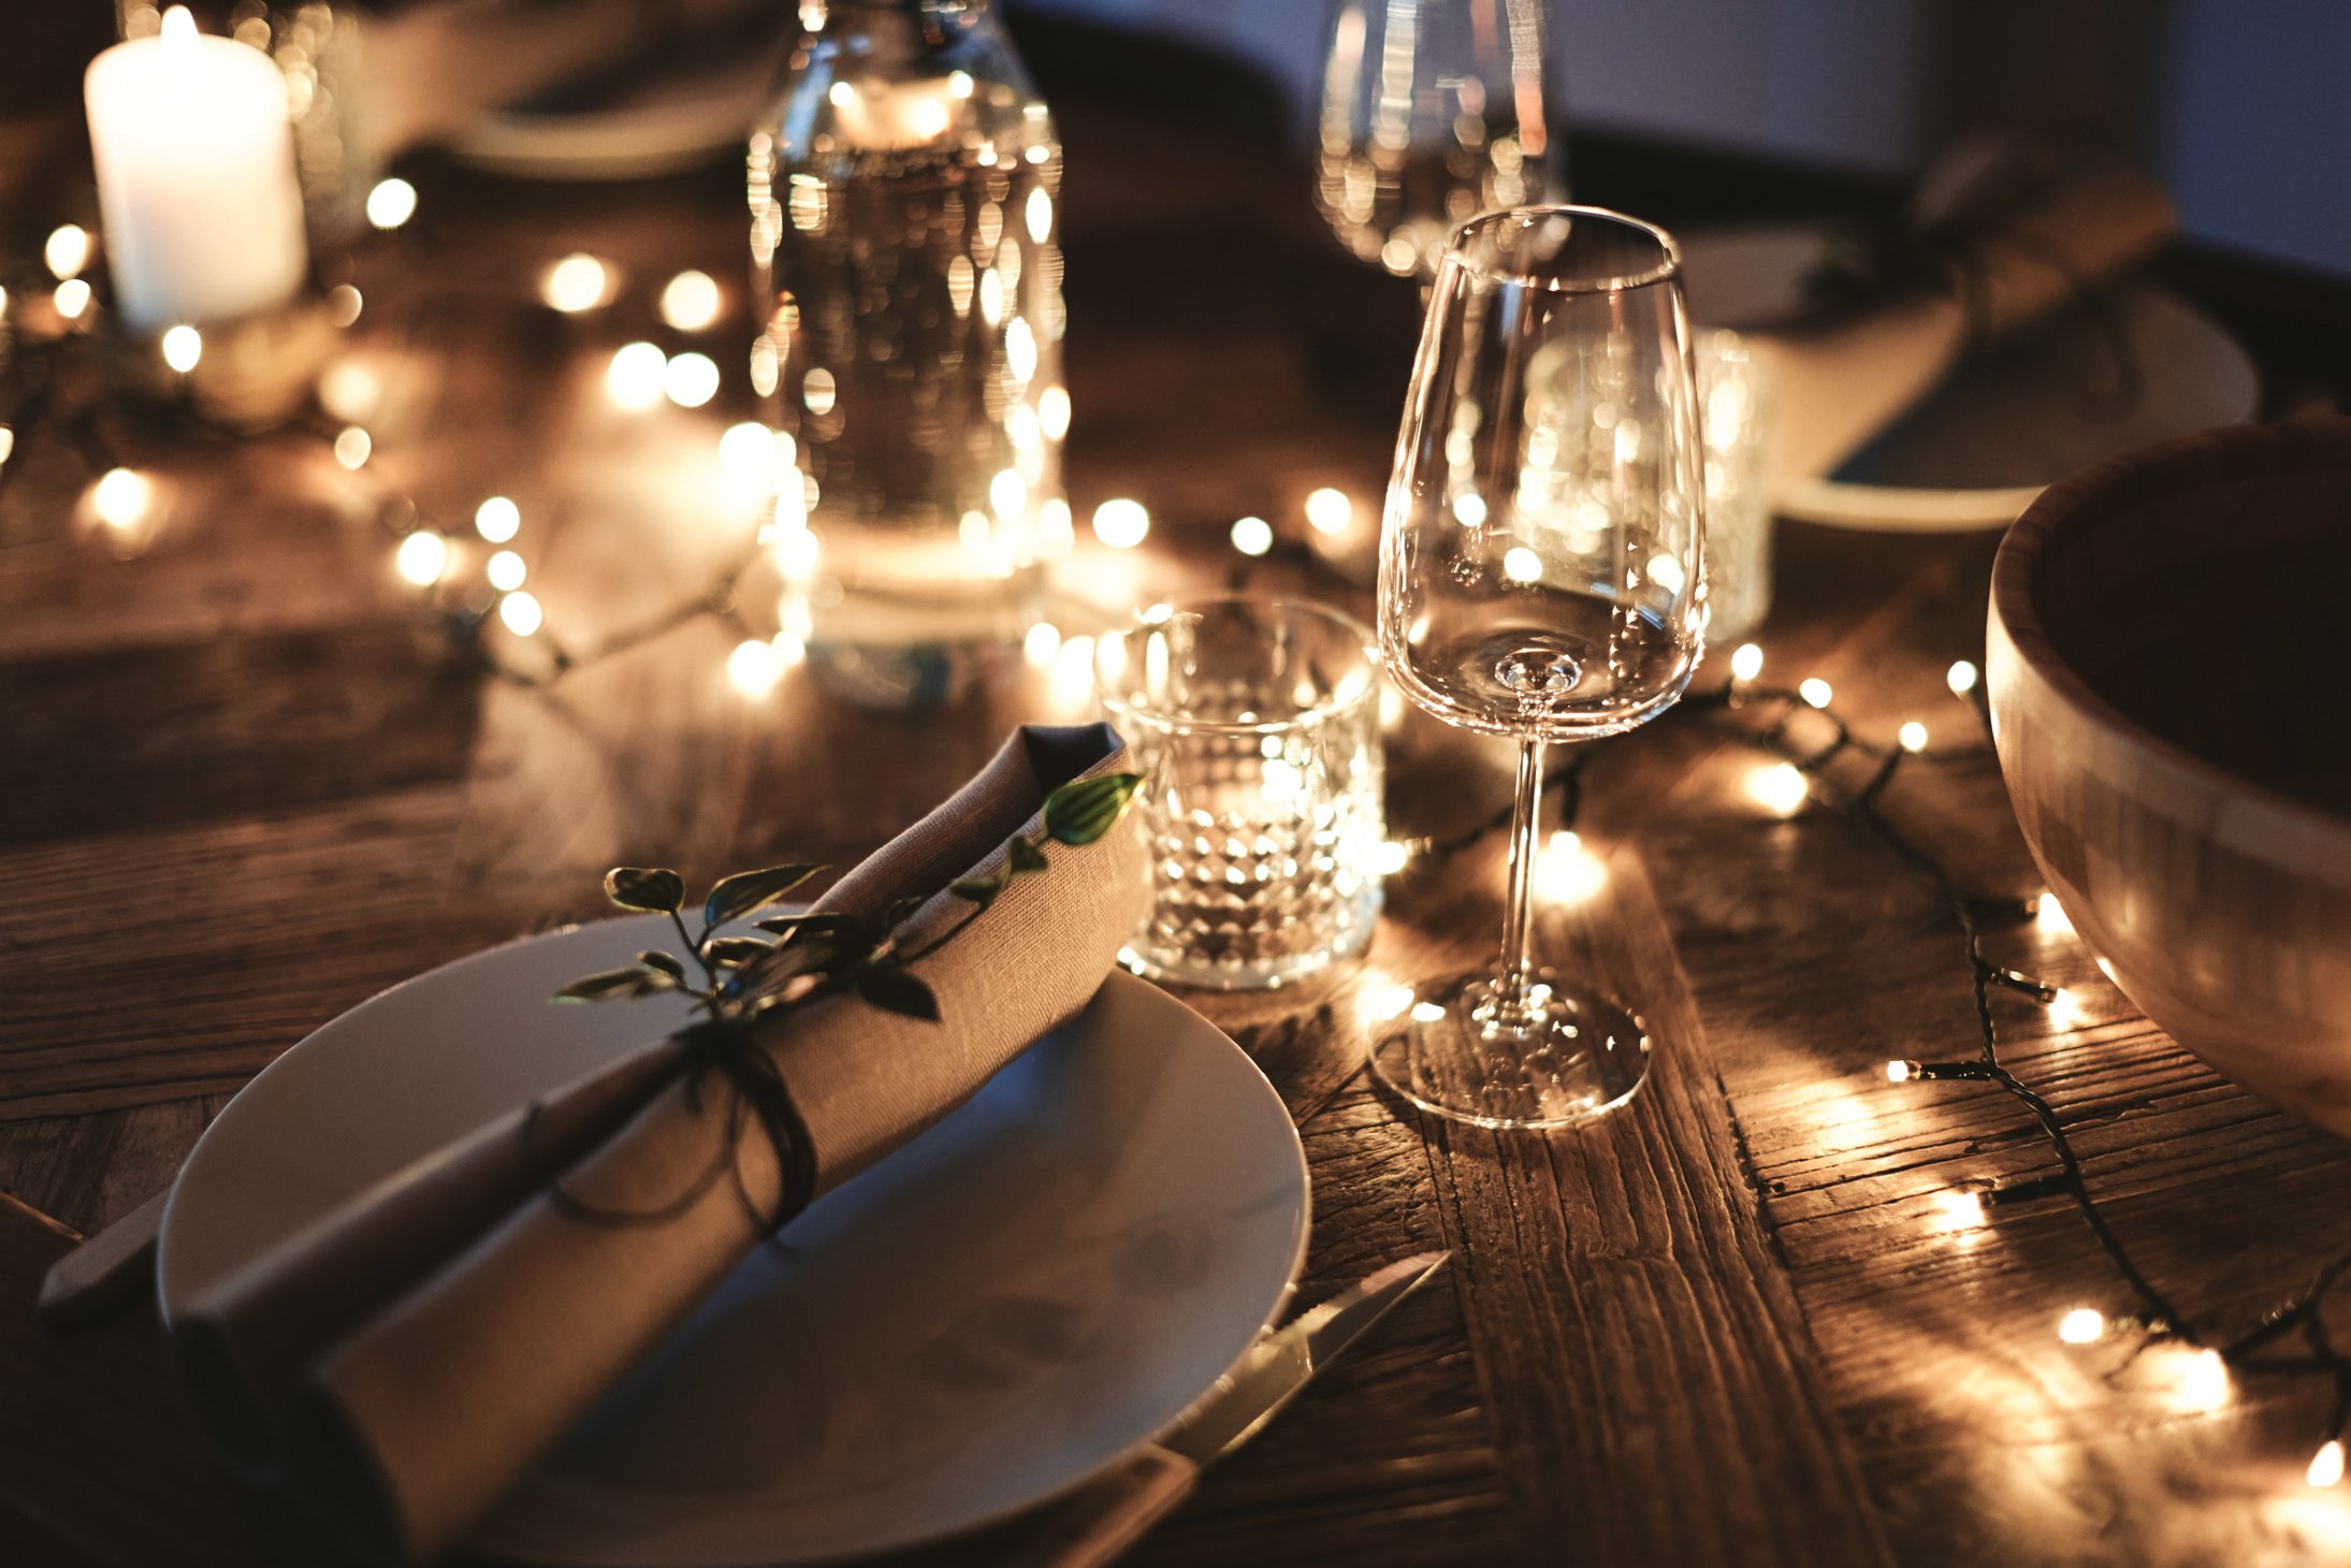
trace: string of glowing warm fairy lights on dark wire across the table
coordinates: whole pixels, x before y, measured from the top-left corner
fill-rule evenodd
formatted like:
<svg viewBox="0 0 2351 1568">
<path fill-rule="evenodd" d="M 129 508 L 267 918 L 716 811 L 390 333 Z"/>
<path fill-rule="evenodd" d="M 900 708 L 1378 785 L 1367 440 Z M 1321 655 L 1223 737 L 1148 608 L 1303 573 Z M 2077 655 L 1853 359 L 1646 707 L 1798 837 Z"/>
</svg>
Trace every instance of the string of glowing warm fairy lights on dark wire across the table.
<svg viewBox="0 0 2351 1568">
<path fill-rule="evenodd" d="M 381 181 L 364 202 L 369 223 L 383 233 L 404 228 L 416 209 L 418 193 L 404 179 Z M 129 538 L 141 534 L 155 508 L 153 475 L 113 463 L 96 423 L 52 407 L 47 378 L 38 374 L 28 378 L 19 369 L 38 353 L 71 348 L 73 339 L 96 327 L 96 296 L 85 277 L 94 256 L 94 235 L 71 223 L 59 226 L 42 247 L 45 287 L 42 282 L 26 287 L 21 275 L 12 280 L 16 282 L 14 292 L 0 287 L 0 371 L 7 371 L 0 376 L 0 386 L 7 378 L 19 383 L 12 388 L 16 390 L 12 404 L 0 407 L 0 484 L 9 477 L 19 430 L 42 421 L 59 423 L 66 442 L 94 473 L 80 503 L 82 512 L 99 527 Z M 538 280 L 538 296 L 550 310 L 585 315 L 614 303 L 618 287 L 618 268 L 574 252 L 548 263 Z M 329 292 L 327 306 L 336 327 L 350 327 L 360 317 L 362 299 L 353 284 L 339 284 Z M 684 270 L 661 284 L 656 310 L 675 334 L 691 336 L 719 322 L 724 292 L 712 277 Z M 195 327 L 174 327 L 160 334 L 155 353 L 172 371 L 188 374 L 200 364 L 205 343 Z M 604 369 L 604 395 L 616 409 L 630 414 L 651 414 L 663 404 L 701 409 L 719 393 L 719 383 L 722 374 L 710 355 L 694 348 L 665 350 L 651 341 L 623 343 Z M 820 545 L 806 527 L 806 503 L 813 498 L 802 489 L 788 435 L 766 423 L 743 421 L 724 428 L 717 440 L 717 458 L 729 475 L 769 482 L 769 494 L 776 496 L 745 552 L 726 562 L 703 590 L 684 595 L 672 607 L 635 625 L 609 630 L 592 644 L 574 644 L 555 635 L 529 585 L 531 562 L 522 548 L 524 512 L 513 498 L 484 496 L 463 527 L 449 527 L 426 517 L 409 496 L 374 484 L 376 437 L 367 428 L 371 402 L 374 388 L 362 371 L 348 362 L 329 364 L 317 388 L 324 423 L 313 421 L 306 428 L 324 440 L 353 482 L 369 487 L 362 494 L 395 531 L 390 569 L 423 595 L 428 614 L 489 672 L 520 684 L 548 684 L 703 616 L 738 632 L 741 639 L 726 658 L 726 679 L 745 698 L 766 696 L 806 656 L 809 625 L 804 618 L 795 618 L 790 597 L 778 609 L 778 628 L 762 635 L 743 614 L 738 592 L 745 574 L 762 559 L 773 562 L 785 583 L 806 581 L 816 569 Z M 1041 550 L 1067 555 L 1074 545 L 1070 510 L 1060 501 L 1049 501 L 1046 508 L 1058 508 L 1058 515 L 1041 520 Z M 1328 562 L 1342 555 L 1340 545 L 1361 536 L 1366 527 L 1354 501 L 1340 489 L 1312 491 L 1302 505 L 1302 522 L 1305 543 L 1298 543 L 1295 536 L 1286 538 L 1265 517 L 1239 517 L 1227 536 L 1239 557 L 1230 574 L 1232 585 L 1246 588 L 1253 569 L 1274 552 L 1307 564 Z M 1112 552 L 1138 548 L 1147 538 L 1150 524 L 1150 512 L 1133 498 L 1103 501 L 1091 515 L 1096 543 Z M 491 623 L 517 649 L 534 649 L 534 656 L 517 658 L 501 651 L 484 635 Z M 1030 628 L 1023 651 L 1032 668 L 1046 672 L 1056 693 L 1081 696 L 1091 691 L 1091 637 L 1063 635 L 1053 621 L 1039 621 Z M 1775 759 L 1747 776 L 1751 799 L 1782 818 L 1794 816 L 1808 802 L 1820 802 L 1869 832 L 1923 877 L 1949 910 L 1972 992 L 1977 1051 L 1951 1060 L 1893 1058 L 1886 1063 L 1888 1084 L 1965 1081 L 1991 1086 L 2022 1107 L 2048 1147 L 2052 1161 L 2048 1173 L 1989 1190 L 1954 1190 L 1947 1194 L 1949 1211 L 1961 1222 L 1982 1227 L 1991 1220 L 1989 1211 L 2001 1204 L 2059 1192 L 2069 1197 L 2132 1307 L 2118 1314 L 2090 1305 L 2069 1307 L 2057 1319 L 2057 1338 L 2067 1345 L 2092 1345 L 2125 1331 L 2139 1335 L 2139 1349 L 2179 1345 L 2191 1352 L 2186 1375 L 2210 1396 L 2208 1403 L 2226 1399 L 2231 1373 L 2327 1380 L 2332 1406 L 2304 1479 L 2313 1488 L 2342 1483 L 2346 1469 L 2344 1432 L 2351 1425 L 2351 1352 L 2335 1345 L 2327 1302 L 2337 1284 L 2351 1274 L 2351 1255 L 2330 1260 L 2302 1293 L 2278 1302 L 2238 1333 L 2222 1333 L 2182 1312 L 2116 1234 L 2085 1180 L 2081 1152 L 2059 1110 L 2001 1056 L 1998 997 L 2017 997 L 2048 1009 L 2057 1030 L 2078 1027 L 2085 1018 L 2081 1001 L 2067 987 L 1998 964 L 1984 950 L 1987 933 L 2027 922 L 2048 936 L 2069 936 L 2071 924 L 2064 910 L 2048 893 L 2038 898 L 1972 893 L 1958 872 L 1921 849 L 1881 811 L 1904 766 L 1980 757 L 1982 748 L 1930 748 L 1928 726 L 1918 719 L 1900 724 L 1893 745 L 1864 741 L 1834 712 L 1834 691 L 1824 679 L 1810 677 L 1794 689 L 1761 684 L 1763 649 L 1751 642 L 1733 649 L 1728 668 L 1728 679 L 1721 686 L 1690 693 L 1683 698 L 1683 708 L 1728 724 L 1744 743 Z M 1989 736 L 1977 668 L 1965 661 L 1954 663 L 1947 682 L 1951 696 L 1972 710 Z M 1394 693 L 1387 696 L 1394 698 Z M 1387 726 L 1394 726 L 1401 719 L 1401 703 L 1392 703 L 1385 719 Z M 1810 733 L 1799 736 L 1799 731 Z M 1573 825 L 1582 773 L 1592 755 L 1592 748 L 1566 752 L 1563 764 L 1545 783 L 1561 797 L 1556 820 L 1563 825 L 1547 839 L 1538 879 L 1545 893 L 1559 903 L 1582 903 L 1606 884 L 1608 875 L 1603 860 L 1582 844 Z M 1860 771 L 1862 783 L 1857 788 L 1841 785 L 1831 769 L 1843 776 Z M 1394 877 L 1413 863 L 1448 858 L 1500 832 L 1507 820 L 1509 813 L 1502 811 L 1453 835 L 1392 839 L 1380 846 L 1375 870 Z M 1408 1006 L 1411 987 L 1368 987 L 1364 1006 L 1371 1013 L 1389 1004 Z"/>
</svg>

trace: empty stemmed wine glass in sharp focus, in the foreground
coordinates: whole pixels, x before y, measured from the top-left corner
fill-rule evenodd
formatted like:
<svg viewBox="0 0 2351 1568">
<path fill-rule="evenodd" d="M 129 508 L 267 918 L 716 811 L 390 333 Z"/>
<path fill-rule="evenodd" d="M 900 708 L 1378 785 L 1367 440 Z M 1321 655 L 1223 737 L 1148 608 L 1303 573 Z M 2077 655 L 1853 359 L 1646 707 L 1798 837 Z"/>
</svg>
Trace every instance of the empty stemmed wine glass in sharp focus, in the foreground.
<svg viewBox="0 0 2351 1568">
<path fill-rule="evenodd" d="M 1380 534 L 1380 651 L 1448 724 L 1519 741 L 1502 961 L 1373 1048 L 1399 1093 L 1479 1126 L 1563 1126 L 1648 1072 L 1641 1020 L 1533 954 L 1552 743 L 1669 708 L 1704 632 L 1704 473 L 1674 240 L 1599 207 L 1453 233 L 1429 292 Z"/>
</svg>

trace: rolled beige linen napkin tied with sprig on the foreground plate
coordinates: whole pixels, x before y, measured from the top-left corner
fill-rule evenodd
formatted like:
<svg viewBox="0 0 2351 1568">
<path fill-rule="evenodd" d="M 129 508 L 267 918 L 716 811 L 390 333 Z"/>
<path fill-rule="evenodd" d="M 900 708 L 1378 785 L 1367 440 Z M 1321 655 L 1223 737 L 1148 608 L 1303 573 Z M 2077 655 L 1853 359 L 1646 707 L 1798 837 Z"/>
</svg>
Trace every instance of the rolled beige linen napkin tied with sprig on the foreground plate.
<svg viewBox="0 0 2351 1568">
<path fill-rule="evenodd" d="M 837 994 L 752 1025 L 806 1126 L 816 1192 L 912 1140 L 1093 997 L 1150 896 L 1133 816 L 1089 844 L 1046 842 L 1046 870 L 1013 877 L 976 919 L 945 889 L 1004 867 L 1006 839 L 1034 837 L 1063 783 L 1126 771 L 1105 724 L 1025 726 L 818 900 L 877 926 L 924 898 L 898 929 L 907 954 L 971 926 L 910 966 L 938 1023 Z M 456 1542 L 762 1239 L 757 1215 L 785 1187 L 778 1152 L 755 1121 L 731 1131 L 734 1093 L 696 1091 L 684 1063 L 677 1039 L 661 1041 L 517 1107 L 179 1314 L 188 1389 L 221 1446 L 322 1502 L 367 1556 Z M 701 1180 L 717 1161 L 734 1180 Z"/>
</svg>

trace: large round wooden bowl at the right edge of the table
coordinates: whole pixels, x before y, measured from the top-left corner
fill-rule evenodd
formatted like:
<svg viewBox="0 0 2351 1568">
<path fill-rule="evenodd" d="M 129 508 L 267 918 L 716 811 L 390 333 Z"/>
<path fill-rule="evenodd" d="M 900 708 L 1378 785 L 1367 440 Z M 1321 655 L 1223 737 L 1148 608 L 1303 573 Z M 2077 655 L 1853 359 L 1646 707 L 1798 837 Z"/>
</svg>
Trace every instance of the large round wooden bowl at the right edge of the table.
<svg viewBox="0 0 2351 1568">
<path fill-rule="evenodd" d="M 2351 421 L 2045 491 L 1991 571 L 2001 773 L 2041 875 L 2182 1046 L 2351 1133 Z"/>
</svg>

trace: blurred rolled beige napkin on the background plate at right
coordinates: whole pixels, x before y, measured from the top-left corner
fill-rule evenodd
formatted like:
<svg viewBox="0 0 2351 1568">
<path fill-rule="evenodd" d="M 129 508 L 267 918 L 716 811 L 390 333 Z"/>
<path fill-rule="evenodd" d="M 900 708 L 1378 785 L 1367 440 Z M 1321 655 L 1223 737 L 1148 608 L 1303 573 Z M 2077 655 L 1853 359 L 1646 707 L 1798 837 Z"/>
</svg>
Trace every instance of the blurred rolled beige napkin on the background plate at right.
<svg viewBox="0 0 2351 1568">
<path fill-rule="evenodd" d="M 1928 289 L 1801 329 L 1742 331 L 1775 388 L 1770 491 L 1831 473 L 1996 339 L 2144 261 L 2177 214 L 2144 172 L 2111 158 L 2041 158 L 2029 143 L 1963 148 L 1916 202 L 1923 226 L 1977 235 L 1956 292 Z"/>
</svg>

